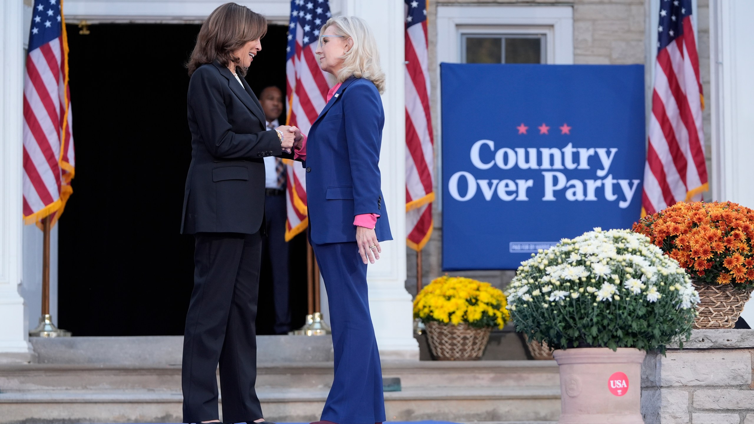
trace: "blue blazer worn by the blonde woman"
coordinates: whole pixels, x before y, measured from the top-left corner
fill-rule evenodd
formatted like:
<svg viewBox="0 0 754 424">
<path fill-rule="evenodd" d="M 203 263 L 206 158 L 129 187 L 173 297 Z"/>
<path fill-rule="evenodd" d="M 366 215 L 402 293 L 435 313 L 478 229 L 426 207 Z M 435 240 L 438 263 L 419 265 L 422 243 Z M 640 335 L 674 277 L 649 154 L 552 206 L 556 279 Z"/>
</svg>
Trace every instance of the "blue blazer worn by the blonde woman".
<svg viewBox="0 0 754 424">
<path fill-rule="evenodd" d="M 311 241 L 356 241 L 354 217 L 378 214 L 379 241 L 392 240 L 380 189 L 385 112 L 372 81 L 348 78 L 311 125 L 306 141 L 306 201 Z"/>
</svg>

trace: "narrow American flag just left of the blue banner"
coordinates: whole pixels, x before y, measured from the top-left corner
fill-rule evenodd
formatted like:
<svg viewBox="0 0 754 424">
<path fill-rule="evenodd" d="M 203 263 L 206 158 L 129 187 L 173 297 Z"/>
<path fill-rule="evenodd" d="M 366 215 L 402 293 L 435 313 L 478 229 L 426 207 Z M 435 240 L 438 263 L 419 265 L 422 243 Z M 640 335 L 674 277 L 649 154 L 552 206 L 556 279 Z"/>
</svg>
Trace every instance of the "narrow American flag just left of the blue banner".
<svg viewBox="0 0 754 424">
<path fill-rule="evenodd" d="M 426 0 L 406 2 L 406 244 L 432 235 L 434 147 L 429 107 Z"/>
</svg>

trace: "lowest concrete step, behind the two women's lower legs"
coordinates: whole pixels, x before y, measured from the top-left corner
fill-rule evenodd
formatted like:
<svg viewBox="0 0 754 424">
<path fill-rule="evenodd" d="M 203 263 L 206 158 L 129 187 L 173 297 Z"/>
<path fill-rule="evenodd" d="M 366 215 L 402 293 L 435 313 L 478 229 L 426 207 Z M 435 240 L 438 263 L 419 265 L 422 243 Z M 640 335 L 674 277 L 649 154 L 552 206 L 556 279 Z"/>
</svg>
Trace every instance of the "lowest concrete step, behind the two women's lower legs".
<svg viewBox="0 0 754 424">
<path fill-rule="evenodd" d="M 274 422 L 319 419 L 327 389 L 257 390 L 265 418 Z M 0 393 L 0 422 L 180 422 L 180 392 L 54 391 Z M 554 387 L 434 387 L 385 392 L 388 420 L 553 421 L 560 411 Z"/>
</svg>

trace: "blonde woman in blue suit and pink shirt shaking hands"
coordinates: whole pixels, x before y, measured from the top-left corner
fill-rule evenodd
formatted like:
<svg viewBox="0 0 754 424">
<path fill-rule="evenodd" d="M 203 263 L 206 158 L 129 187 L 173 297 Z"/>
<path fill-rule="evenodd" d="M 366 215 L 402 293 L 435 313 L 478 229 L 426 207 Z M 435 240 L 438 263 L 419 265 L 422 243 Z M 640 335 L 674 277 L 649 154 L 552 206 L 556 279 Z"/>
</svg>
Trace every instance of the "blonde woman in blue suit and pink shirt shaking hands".
<svg viewBox="0 0 754 424">
<path fill-rule="evenodd" d="M 385 421 L 385 401 L 366 266 L 379 259 L 379 242 L 392 239 L 378 167 L 385 74 L 357 17 L 328 20 L 316 53 L 337 84 L 308 139 L 296 134 L 296 155 L 305 158 L 309 241 L 333 327 L 335 379 L 319 423 L 372 424 Z"/>
</svg>

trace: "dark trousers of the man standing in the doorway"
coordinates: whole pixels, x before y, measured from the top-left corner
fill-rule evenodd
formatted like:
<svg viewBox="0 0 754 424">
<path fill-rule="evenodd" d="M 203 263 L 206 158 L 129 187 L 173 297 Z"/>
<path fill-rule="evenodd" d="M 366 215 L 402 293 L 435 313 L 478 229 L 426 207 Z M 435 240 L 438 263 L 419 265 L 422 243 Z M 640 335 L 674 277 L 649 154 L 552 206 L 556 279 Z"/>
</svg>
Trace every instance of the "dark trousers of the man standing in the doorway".
<svg viewBox="0 0 754 424">
<path fill-rule="evenodd" d="M 265 196 L 265 229 L 262 248 L 272 270 L 272 299 L 275 306 L 274 330 L 277 334 L 290 331 L 290 281 L 288 280 L 288 243 L 285 241 L 286 196 Z"/>
</svg>

